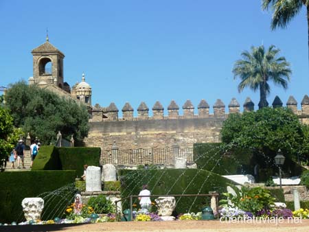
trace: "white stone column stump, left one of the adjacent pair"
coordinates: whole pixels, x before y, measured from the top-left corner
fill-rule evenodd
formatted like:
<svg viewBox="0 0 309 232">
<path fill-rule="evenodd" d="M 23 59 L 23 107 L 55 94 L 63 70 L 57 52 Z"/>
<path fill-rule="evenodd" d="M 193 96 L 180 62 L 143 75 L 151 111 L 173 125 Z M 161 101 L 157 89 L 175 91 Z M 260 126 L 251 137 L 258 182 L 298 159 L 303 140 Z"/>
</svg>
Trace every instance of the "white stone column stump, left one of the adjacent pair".
<svg viewBox="0 0 309 232">
<path fill-rule="evenodd" d="M 86 192 L 102 191 L 101 168 L 88 166 L 86 170 Z"/>
</svg>

